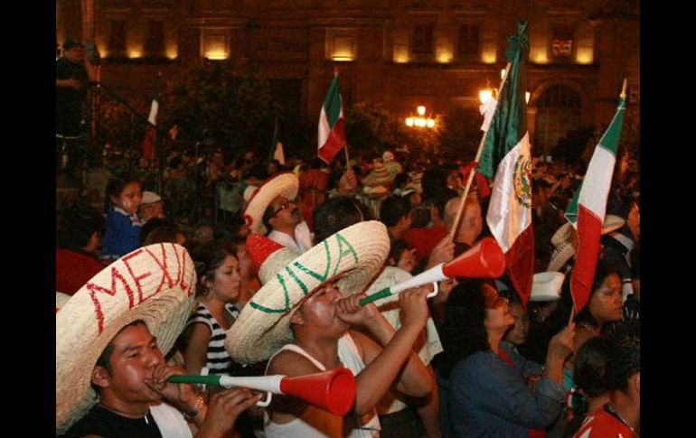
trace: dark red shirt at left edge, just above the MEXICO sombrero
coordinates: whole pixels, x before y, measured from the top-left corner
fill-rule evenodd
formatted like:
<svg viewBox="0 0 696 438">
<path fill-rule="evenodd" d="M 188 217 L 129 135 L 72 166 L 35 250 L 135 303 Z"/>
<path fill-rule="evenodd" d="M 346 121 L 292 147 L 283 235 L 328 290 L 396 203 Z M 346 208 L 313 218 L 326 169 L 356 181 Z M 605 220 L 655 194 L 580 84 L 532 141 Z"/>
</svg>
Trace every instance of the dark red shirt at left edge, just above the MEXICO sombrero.
<svg viewBox="0 0 696 438">
<path fill-rule="evenodd" d="M 69 249 L 55 251 L 55 287 L 63 294 L 75 294 L 89 279 L 104 269 L 99 259 Z"/>
</svg>

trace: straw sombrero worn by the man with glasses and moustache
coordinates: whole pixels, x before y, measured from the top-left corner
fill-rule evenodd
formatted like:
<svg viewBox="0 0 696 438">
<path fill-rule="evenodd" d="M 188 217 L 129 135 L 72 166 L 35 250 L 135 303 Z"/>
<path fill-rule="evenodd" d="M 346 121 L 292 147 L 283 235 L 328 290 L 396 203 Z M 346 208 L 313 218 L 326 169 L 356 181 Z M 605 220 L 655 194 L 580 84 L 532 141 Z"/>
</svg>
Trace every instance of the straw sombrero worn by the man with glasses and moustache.
<svg viewBox="0 0 696 438">
<path fill-rule="evenodd" d="M 247 208 L 244 209 L 244 219 L 247 220 L 251 232 L 267 234 L 268 229 L 263 224 L 263 213 L 277 196 L 294 200 L 299 186 L 300 182 L 292 172 L 280 173 L 264 182 L 251 196 Z"/>
</svg>

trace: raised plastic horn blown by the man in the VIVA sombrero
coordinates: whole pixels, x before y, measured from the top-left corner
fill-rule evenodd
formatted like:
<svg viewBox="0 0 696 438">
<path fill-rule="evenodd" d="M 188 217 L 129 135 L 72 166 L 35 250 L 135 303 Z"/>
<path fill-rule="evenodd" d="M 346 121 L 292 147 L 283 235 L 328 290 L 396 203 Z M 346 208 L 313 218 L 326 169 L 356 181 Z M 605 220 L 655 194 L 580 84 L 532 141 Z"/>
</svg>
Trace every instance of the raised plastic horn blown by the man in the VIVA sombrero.
<svg viewBox="0 0 696 438">
<path fill-rule="evenodd" d="M 498 246 L 494 238 L 484 238 L 475 247 L 454 260 L 433 266 L 428 271 L 420 273 L 409 280 L 386 287 L 379 292 L 366 296 L 360 300 L 361 305 L 366 305 L 390 295 L 399 294 L 411 287 L 423 284 L 441 282 L 448 278 L 497 278 L 505 272 L 505 255 L 503 249 Z M 437 283 L 436 283 L 437 284 Z M 437 294 L 437 288 L 428 298 Z"/>
</svg>

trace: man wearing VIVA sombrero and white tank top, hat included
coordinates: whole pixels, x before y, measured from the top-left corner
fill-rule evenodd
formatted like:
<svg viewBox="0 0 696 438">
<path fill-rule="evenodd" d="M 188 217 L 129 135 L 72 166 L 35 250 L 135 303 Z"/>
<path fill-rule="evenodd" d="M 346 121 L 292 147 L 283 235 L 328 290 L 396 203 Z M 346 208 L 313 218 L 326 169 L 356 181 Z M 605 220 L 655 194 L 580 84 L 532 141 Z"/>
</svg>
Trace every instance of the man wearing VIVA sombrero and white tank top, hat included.
<svg viewBox="0 0 696 438">
<path fill-rule="evenodd" d="M 240 363 L 270 359 L 267 375 L 299 377 L 346 367 L 357 394 L 348 415 L 332 415 L 292 396 L 274 396 L 266 436 L 379 436 L 375 405 L 390 389 L 407 396 L 432 390 L 428 368 L 413 350 L 428 319 L 427 288 L 401 293 L 395 330 L 361 294 L 389 254 L 387 228 L 365 221 L 291 255 L 268 238 L 247 241 L 264 285 L 227 332 L 225 347 Z M 370 337 L 364 333 L 369 333 Z"/>
</svg>

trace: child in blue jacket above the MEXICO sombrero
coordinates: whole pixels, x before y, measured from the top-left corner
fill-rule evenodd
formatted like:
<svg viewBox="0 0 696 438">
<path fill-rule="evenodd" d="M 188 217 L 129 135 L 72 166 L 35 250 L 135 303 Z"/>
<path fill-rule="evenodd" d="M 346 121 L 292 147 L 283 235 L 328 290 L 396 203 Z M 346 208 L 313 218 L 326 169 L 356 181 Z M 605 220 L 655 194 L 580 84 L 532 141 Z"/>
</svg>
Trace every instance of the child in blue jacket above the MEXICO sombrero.
<svg viewBox="0 0 696 438">
<path fill-rule="evenodd" d="M 115 260 L 140 247 L 143 222 L 137 210 L 143 200 L 142 187 L 133 178 L 112 178 L 108 181 L 106 198 L 108 216 L 103 257 Z"/>
</svg>

